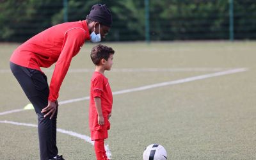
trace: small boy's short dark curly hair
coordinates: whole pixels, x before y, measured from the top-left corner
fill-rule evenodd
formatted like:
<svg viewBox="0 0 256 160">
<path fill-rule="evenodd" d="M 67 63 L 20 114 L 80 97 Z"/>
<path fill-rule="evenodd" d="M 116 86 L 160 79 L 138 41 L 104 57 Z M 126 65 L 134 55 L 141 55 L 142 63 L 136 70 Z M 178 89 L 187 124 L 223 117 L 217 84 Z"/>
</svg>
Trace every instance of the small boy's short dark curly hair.
<svg viewBox="0 0 256 160">
<path fill-rule="evenodd" d="M 108 61 L 110 54 L 114 54 L 114 53 L 115 51 L 111 47 L 98 44 L 92 48 L 91 59 L 95 65 L 99 65 L 102 59 L 105 59 Z"/>
</svg>

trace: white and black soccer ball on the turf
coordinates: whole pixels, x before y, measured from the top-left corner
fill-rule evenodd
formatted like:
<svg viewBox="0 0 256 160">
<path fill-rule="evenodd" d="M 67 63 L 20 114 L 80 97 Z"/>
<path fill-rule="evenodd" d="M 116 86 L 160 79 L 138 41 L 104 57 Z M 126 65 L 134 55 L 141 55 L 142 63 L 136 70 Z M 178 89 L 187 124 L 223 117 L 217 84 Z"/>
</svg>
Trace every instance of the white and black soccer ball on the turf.
<svg viewBox="0 0 256 160">
<path fill-rule="evenodd" d="M 148 145 L 143 152 L 143 160 L 166 160 L 167 153 L 163 146 L 152 144 Z"/>
</svg>

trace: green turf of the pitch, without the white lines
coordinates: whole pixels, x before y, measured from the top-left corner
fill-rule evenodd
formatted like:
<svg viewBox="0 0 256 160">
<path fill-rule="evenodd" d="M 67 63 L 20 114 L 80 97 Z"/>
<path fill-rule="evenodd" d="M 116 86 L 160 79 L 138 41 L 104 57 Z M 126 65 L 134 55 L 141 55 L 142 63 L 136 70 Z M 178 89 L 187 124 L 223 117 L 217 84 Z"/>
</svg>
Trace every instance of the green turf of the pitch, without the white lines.
<svg viewBox="0 0 256 160">
<path fill-rule="evenodd" d="M 0 113 L 29 101 L 9 70 L 19 44 L 0 44 Z M 119 72 L 131 68 L 248 68 L 246 72 L 209 77 L 140 92 L 113 96 L 111 130 L 106 140 L 113 159 L 142 159 L 151 143 L 166 148 L 168 159 L 256 159 L 256 42 L 109 43 L 113 71 L 106 72 L 113 92 L 220 71 Z M 70 69 L 94 68 L 92 44 L 85 44 Z M 4 71 L 5 70 L 5 71 Z M 51 79 L 51 72 L 43 69 Z M 2 72 L 1 72 L 2 71 Z M 3 72 L 4 71 L 4 72 Z M 86 97 L 92 72 L 70 72 L 59 101 Z M 90 136 L 88 100 L 63 104 L 58 128 Z M 36 124 L 35 111 L 0 115 L 0 120 Z M 35 127 L 0 123 L 0 159 L 38 159 Z M 66 159 L 95 159 L 93 146 L 58 132 L 58 148 Z"/>
</svg>

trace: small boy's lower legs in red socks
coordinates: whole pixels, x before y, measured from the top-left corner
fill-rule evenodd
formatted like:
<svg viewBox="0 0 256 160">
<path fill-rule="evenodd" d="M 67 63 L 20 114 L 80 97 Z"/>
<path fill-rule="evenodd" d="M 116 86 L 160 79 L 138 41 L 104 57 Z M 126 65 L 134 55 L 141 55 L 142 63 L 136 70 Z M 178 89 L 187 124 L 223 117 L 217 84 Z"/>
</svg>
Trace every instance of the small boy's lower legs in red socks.
<svg viewBox="0 0 256 160">
<path fill-rule="evenodd" d="M 97 160 L 108 160 L 106 150 L 104 148 L 104 139 L 98 139 L 94 141 L 94 149 Z"/>
</svg>

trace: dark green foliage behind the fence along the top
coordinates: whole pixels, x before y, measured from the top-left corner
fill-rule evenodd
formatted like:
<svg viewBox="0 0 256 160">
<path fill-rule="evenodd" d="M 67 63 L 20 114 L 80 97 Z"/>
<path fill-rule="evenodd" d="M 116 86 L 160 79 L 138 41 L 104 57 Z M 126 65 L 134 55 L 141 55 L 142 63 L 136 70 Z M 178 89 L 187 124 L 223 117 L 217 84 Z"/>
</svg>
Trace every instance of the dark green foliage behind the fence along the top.
<svg viewBox="0 0 256 160">
<path fill-rule="evenodd" d="M 228 0 L 148 0 L 152 40 L 228 39 Z M 144 1 L 68 0 L 68 21 L 84 20 L 93 4 L 107 4 L 113 27 L 106 40 L 145 40 Z M 20 42 L 63 22 L 63 0 L 0 1 L 0 41 Z M 236 39 L 256 38 L 256 3 L 234 0 Z"/>
</svg>

